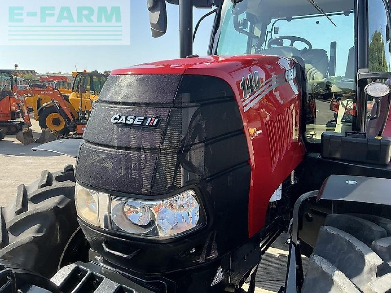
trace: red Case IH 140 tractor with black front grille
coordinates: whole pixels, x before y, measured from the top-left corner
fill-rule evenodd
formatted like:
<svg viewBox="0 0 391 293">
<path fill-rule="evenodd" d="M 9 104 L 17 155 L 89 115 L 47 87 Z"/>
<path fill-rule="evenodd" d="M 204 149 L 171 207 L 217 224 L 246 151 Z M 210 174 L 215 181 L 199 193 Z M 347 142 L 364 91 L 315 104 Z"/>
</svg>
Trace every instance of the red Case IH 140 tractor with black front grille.
<svg viewBox="0 0 391 293">
<path fill-rule="evenodd" d="M 84 140 L 35 148 L 77 162 L 0 209 L 0 292 L 253 293 L 284 231 L 280 293 L 390 292 L 389 2 L 167 2 L 181 59 L 112 71 Z"/>
</svg>

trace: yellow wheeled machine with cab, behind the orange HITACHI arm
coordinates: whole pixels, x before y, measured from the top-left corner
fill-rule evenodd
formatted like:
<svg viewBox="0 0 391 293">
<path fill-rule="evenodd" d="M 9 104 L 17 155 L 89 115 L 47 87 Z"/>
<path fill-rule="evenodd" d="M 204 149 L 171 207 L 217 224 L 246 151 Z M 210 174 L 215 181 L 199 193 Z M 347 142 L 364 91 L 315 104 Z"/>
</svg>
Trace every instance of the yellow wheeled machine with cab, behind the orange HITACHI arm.
<svg viewBox="0 0 391 293">
<path fill-rule="evenodd" d="M 64 104 L 74 116 L 74 121 L 88 120 L 92 102 L 98 99 L 107 77 L 93 72 L 74 72 L 72 75 L 74 75 L 75 80 L 69 96 L 61 90 Z M 45 87 L 46 85 L 33 86 Z M 58 135 L 70 132 L 63 116 L 53 104 L 51 96 L 45 95 L 45 91 L 42 91 L 40 95 L 27 96 L 27 105 L 32 108 L 34 120 L 39 121 L 41 129 L 50 129 Z"/>
</svg>

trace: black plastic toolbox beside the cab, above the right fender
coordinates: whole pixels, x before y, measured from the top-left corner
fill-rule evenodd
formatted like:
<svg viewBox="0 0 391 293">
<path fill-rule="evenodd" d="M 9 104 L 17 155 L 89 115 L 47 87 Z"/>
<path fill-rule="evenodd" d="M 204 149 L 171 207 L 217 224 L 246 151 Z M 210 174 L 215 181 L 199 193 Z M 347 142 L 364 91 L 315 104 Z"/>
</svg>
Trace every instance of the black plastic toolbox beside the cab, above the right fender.
<svg viewBox="0 0 391 293">
<path fill-rule="evenodd" d="M 323 132 L 322 157 L 367 164 L 387 165 L 391 159 L 391 138 L 365 132 Z"/>
</svg>

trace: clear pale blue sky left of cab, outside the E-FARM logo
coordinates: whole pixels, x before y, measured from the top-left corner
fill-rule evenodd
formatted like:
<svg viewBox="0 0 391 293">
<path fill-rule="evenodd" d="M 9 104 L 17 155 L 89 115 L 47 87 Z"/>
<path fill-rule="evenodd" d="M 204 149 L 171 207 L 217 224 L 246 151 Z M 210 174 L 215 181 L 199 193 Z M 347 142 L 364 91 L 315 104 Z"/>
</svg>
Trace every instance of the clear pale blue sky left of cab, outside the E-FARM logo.
<svg viewBox="0 0 391 293">
<path fill-rule="evenodd" d="M 149 27 L 146 0 L 131 0 L 131 46 L 0 46 L 0 68 L 34 69 L 39 73 L 78 70 L 112 70 L 130 65 L 179 57 L 179 9 L 167 4 L 168 28 L 165 36 L 154 39 Z M 194 9 L 194 23 L 208 9 Z M 198 31 L 194 53 L 207 53 L 214 14 Z"/>
</svg>

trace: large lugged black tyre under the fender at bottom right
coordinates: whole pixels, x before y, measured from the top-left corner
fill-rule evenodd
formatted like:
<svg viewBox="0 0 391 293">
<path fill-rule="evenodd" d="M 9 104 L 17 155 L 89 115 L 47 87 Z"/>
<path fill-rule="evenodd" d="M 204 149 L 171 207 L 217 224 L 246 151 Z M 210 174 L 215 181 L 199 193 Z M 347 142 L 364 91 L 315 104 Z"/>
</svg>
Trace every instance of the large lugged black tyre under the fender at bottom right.
<svg viewBox="0 0 391 293">
<path fill-rule="evenodd" d="M 301 293 L 391 291 L 391 220 L 330 214 L 319 230 Z"/>
</svg>

